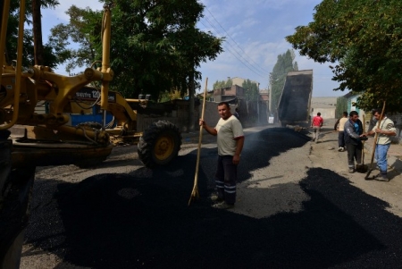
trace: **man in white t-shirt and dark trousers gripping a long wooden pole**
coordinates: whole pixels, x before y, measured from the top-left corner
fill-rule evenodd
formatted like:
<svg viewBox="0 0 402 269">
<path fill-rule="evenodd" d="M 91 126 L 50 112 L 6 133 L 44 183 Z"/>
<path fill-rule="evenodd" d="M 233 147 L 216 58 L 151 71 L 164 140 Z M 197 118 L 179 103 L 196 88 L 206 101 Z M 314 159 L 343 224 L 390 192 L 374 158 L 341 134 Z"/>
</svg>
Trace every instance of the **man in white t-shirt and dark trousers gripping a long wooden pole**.
<svg viewBox="0 0 402 269">
<path fill-rule="evenodd" d="M 213 207 L 228 209 L 236 202 L 237 169 L 240 162 L 240 153 L 244 145 L 243 127 L 238 118 L 230 113 L 227 102 L 218 104 L 218 113 L 221 119 L 213 128 L 202 119 L 199 125 L 208 133 L 217 136 L 218 164 L 215 173 L 217 194 L 212 199 L 218 204 Z"/>
</svg>

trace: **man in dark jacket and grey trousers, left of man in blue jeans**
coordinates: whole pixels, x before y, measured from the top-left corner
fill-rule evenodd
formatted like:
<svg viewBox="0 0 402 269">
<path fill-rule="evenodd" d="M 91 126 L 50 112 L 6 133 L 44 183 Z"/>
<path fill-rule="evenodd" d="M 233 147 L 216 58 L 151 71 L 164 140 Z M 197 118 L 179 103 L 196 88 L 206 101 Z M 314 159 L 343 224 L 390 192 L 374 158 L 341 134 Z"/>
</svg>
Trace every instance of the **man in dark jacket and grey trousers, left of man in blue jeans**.
<svg viewBox="0 0 402 269">
<path fill-rule="evenodd" d="M 348 150 L 348 172 L 355 172 L 355 160 L 357 166 L 362 166 L 362 140 L 367 138 L 363 135 L 363 124 L 359 120 L 356 111 L 349 113 L 349 119 L 345 122 L 345 145 Z"/>
</svg>

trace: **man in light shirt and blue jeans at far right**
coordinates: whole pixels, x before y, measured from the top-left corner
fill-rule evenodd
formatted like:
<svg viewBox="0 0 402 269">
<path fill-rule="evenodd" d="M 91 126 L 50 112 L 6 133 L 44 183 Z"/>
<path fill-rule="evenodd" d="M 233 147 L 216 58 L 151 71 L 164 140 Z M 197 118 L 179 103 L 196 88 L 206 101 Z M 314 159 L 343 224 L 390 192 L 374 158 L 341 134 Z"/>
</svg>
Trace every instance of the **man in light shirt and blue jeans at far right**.
<svg viewBox="0 0 402 269">
<path fill-rule="evenodd" d="M 393 137 L 397 135 L 397 129 L 395 128 L 394 122 L 390 120 L 385 113 L 381 117 L 380 110 L 373 111 L 374 117 L 377 121 L 380 122 L 380 128 L 377 126 L 373 127 L 373 130 L 368 131 L 365 135 L 370 136 L 374 133 L 378 134 L 377 143 L 375 146 L 375 159 L 377 160 L 377 166 L 380 168 L 380 173 L 374 176 L 374 179 L 377 181 L 389 181 L 387 175 L 387 155 L 389 146 L 391 143 L 391 139 L 389 137 Z"/>
</svg>

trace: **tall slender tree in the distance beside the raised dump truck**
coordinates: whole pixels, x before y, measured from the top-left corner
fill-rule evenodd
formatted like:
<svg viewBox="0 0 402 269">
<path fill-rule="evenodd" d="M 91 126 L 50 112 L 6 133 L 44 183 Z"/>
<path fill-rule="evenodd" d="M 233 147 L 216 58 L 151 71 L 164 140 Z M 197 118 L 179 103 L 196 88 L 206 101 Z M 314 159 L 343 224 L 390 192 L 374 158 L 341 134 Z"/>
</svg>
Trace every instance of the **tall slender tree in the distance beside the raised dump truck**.
<svg viewBox="0 0 402 269">
<path fill-rule="evenodd" d="M 270 113 L 277 113 L 277 107 L 281 98 L 283 86 L 285 85 L 286 76 L 289 71 L 297 71 L 297 62 L 295 60 L 295 54 L 292 50 L 288 49 L 283 55 L 278 55 L 278 60 L 273 66 L 273 70 L 270 74 L 270 84 L 272 90 L 272 100 Z"/>
</svg>

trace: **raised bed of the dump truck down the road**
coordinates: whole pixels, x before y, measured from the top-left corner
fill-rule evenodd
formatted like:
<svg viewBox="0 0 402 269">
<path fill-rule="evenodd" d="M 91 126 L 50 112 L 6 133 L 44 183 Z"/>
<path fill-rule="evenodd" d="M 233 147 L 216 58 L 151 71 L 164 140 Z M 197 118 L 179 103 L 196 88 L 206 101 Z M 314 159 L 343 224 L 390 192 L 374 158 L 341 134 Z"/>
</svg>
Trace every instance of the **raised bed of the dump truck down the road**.
<svg viewBox="0 0 402 269">
<path fill-rule="evenodd" d="M 289 71 L 278 105 L 281 126 L 310 126 L 313 70 Z"/>
</svg>

